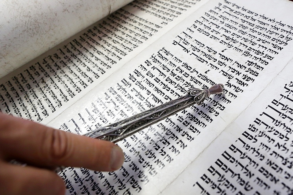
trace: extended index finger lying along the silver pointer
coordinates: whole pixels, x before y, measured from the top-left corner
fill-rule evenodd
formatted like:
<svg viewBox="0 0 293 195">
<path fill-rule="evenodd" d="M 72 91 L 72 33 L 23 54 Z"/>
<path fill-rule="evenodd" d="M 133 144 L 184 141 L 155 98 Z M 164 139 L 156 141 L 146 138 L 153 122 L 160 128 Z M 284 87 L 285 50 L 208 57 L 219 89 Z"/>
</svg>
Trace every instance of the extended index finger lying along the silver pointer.
<svg viewBox="0 0 293 195">
<path fill-rule="evenodd" d="M 115 144 L 92 139 L 36 122 L 0 114 L 1 153 L 6 159 L 17 159 L 37 166 L 73 166 L 98 171 L 113 171 L 124 161 Z"/>
</svg>

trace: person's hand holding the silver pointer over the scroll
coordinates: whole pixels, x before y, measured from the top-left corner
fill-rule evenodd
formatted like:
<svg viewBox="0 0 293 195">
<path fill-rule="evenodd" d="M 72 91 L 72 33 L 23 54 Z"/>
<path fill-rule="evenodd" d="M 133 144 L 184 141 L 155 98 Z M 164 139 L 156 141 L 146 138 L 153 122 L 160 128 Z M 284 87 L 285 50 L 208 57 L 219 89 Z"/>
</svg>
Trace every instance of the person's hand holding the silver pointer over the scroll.
<svg viewBox="0 0 293 195">
<path fill-rule="evenodd" d="M 19 166 L 12 159 L 27 163 Z M 115 144 L 0 113 L 0 194 L 64 194 L 60 165 L 114 171 L 124 155 Z"/>
</svg>

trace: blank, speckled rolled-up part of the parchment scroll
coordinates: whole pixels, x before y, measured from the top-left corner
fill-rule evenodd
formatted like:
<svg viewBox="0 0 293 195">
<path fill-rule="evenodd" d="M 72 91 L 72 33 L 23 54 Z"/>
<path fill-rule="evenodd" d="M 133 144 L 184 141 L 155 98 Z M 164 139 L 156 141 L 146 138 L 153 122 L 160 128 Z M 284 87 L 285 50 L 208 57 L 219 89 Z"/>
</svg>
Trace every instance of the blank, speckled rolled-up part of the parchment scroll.
<svg viewBox="0 0 293 195">
<path fill-rule="evenodd" d="M 1 1 L 0 78 L 131 1 Z"/>
</svg>

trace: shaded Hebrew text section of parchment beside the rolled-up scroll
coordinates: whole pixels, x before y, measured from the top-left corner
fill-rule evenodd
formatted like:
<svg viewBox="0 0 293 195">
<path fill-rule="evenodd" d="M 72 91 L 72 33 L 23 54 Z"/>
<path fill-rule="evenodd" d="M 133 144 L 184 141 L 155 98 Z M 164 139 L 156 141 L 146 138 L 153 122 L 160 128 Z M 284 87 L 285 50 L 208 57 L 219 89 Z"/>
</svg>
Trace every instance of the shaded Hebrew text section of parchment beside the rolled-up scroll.
<svg viewBox="0 0 293 195">
<path fill-rule="evenodd" d="M 3 77 L 0 111 L 47 124 L 202 4 L 131 2 Z"/>
</svg>

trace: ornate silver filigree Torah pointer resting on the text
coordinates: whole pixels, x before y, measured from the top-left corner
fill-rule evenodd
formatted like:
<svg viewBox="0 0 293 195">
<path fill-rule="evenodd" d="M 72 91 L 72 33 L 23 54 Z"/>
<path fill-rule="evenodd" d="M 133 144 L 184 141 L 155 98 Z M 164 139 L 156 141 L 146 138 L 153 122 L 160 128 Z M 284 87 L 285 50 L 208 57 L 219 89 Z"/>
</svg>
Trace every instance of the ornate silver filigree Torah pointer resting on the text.
<svg viewBox="0 0 293 195">
<path fill-rule="evenodd" d="M 85 136 L 117 142 L 128 137 L 139 130 L 153 125 L 193 104 L 201 105 L 211 94 L 223 94 L 224 85 L 217 84 L 209 89 L 189 89 L 188 95 L 169 101 L 143 113 L 134 115 L 125 120 L 110 124 L 88 132 Z"/>
</svg>

